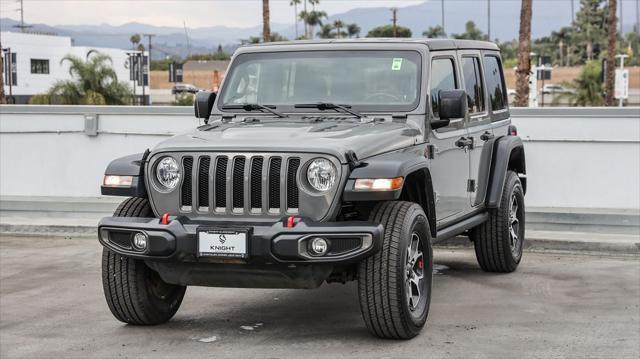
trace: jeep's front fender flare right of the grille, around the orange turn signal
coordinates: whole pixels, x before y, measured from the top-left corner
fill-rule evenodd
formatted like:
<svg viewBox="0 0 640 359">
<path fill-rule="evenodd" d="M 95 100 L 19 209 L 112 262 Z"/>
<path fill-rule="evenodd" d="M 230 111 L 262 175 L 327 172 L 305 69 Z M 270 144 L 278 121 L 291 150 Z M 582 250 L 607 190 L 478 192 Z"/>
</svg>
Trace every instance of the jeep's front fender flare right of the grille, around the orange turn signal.
<svg viewBox="0 0 640 359">
<path fill-rule="evenodd" d="M 403 188 L 395 191 L 355 191 L 354 185 L 358 178 L 396 178 L 404 177 Z M 436 238 L 436 207 L 433 194 L 433 183 L 429 170 L 429 161 L 417 152 L 392 152 L 371 157 L 362 161 L 359 167 L 353 169 L 342 194 L 346 202 L 379 202 L 401 199 L 404 187 L 409 182 L 417 180 L 422 187 L 419 193 L 412 193 L 422 206 L 429 221 L 432 238 Z"/>
</svg>

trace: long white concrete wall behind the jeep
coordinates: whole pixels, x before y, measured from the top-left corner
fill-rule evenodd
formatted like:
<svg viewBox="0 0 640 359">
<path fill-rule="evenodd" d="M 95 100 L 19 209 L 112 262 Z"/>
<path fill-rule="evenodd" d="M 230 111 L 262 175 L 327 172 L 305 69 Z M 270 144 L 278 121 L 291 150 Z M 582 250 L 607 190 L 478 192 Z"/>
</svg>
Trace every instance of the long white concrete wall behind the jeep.
<svg viewBox="0 0 640 359">
<path fill-rule="evenodd" d="M 199 122 L 190 107 L 0 106 L 0 194 L 96 197 L 107 164 Z M 96 136 L 85 116 L 97 116 Z M 529 207 L 640 208 L 640 108 L 516 109 Z"/>
</svg>

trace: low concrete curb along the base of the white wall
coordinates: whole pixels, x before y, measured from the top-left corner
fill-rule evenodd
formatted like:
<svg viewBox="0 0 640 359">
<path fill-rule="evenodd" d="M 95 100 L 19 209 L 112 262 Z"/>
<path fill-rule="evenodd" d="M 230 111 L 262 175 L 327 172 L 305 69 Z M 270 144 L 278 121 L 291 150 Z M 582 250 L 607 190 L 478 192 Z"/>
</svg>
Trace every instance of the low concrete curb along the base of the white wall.
<svg viewBox="0 0 640 359">
<path fill-rule="evenodd" d="M 83 237 L 95 238 L 95 226 L 73 225 L 15 225 L 0 224 L 0 235 L 17 237 Z M 623 256 L 640 256 L 640 237 L 634 239 L 625 236 L 625 240 L 585 240 L 573 238 L 556 238 L 532 235 L 525 241 L 527 251 L 561 251 L 584 252 L 595 254 L 613 254 Z M 612 235 L 612 237 L 615 237 Z M 467 237 L 458 236 L 437 243 L 436 248 L 473 248 L 473 243 Z"/>
</svg>

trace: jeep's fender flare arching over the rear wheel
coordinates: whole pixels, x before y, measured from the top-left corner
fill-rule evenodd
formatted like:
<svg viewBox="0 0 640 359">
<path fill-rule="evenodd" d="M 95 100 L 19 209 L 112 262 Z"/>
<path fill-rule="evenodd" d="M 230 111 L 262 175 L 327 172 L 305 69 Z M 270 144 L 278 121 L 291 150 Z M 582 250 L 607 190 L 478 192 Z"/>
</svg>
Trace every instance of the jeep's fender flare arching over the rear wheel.
<svg viewBox="0 0 640 359">
<path fill-rule="evenodd" d="M 508 170 L 512 169 L 519 175 L 527 173 L 524 145 L 518 136 L 503 136 L 496 139 L 493 144 L 492 157 L 491 172 L 486 186 L 486 206 L 488 208 L 496 208 L 500 204 Z M 521 176 L 521 181 L 522 189 L 526 193 L 526 176 Z"/>
</svg>

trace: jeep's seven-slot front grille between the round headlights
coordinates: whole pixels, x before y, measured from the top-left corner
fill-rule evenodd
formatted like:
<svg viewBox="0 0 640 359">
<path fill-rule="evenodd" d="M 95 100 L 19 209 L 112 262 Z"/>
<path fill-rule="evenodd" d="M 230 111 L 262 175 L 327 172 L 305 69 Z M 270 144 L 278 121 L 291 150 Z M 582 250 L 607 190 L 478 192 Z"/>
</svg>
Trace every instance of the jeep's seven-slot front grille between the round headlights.
<svg viewBox="0 0 640 359">
<path fill-rule="evenodd" d="M 202 154 L 186 155 L 181 163 L 183 212 L 213 215 L 298 212 L 299 157 Z"/>
</svg>

